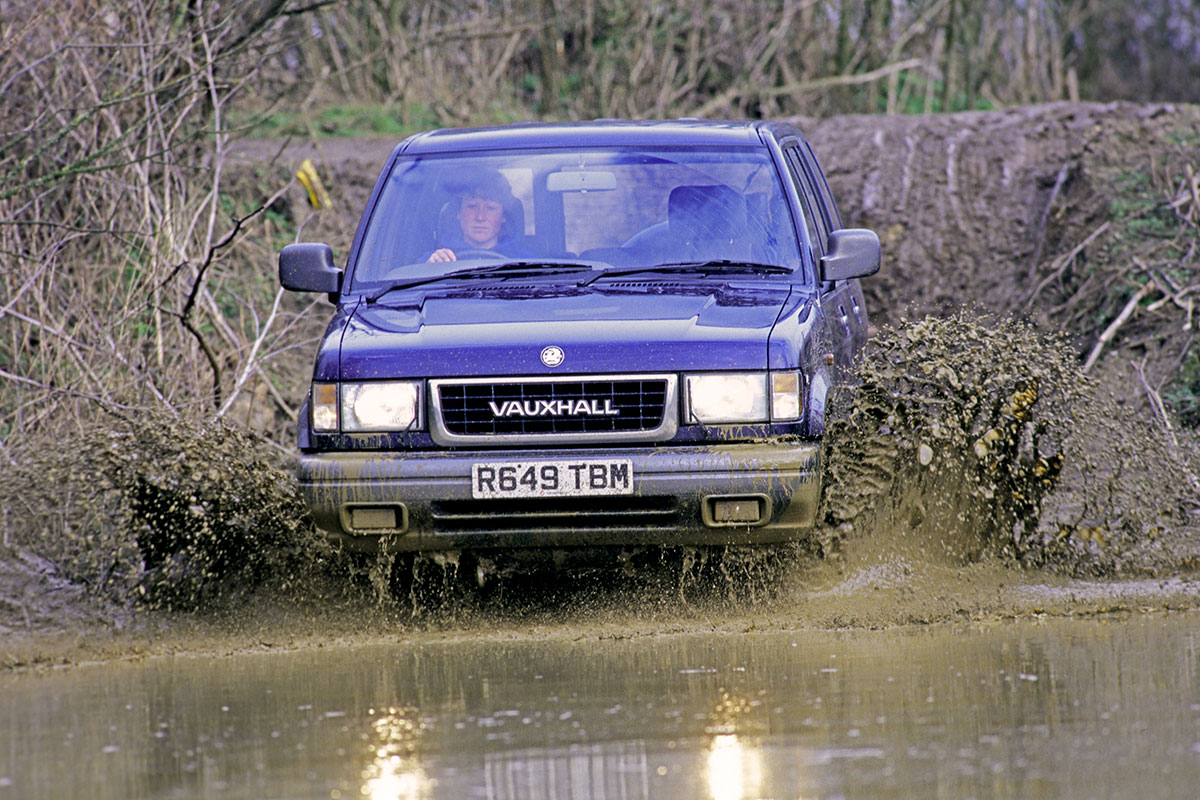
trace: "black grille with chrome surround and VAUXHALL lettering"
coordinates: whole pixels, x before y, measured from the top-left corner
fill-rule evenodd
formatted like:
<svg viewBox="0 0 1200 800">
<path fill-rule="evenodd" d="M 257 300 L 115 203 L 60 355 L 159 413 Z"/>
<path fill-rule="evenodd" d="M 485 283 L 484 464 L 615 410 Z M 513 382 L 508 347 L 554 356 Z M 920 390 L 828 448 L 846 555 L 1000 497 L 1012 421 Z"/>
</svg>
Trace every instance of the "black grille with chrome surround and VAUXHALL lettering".
<svg viewBox="0 0 1200 800">
<path fill-rule="evenodd" d="M 449 437 L 476 441 L 629 438 L 661 432 L 673 395 L 673 380 L 664 375 L 446 380 L 434 383 L 434 411 Z"/>
</svg>

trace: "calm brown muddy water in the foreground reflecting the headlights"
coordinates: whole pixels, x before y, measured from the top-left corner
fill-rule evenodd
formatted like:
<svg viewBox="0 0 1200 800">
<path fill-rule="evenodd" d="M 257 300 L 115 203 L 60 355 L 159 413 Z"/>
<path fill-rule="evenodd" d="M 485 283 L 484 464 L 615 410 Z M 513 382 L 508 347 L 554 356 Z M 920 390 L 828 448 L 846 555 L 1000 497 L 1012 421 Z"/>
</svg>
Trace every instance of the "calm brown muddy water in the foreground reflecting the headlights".
<svg viewBox="0 0 1200 800">
<path fill-rule="evenodd" d="M 78 667 L 2 679 L 0 798 L 1194 796 L 1198 656 L 1183 612 Z"/>
</svg>

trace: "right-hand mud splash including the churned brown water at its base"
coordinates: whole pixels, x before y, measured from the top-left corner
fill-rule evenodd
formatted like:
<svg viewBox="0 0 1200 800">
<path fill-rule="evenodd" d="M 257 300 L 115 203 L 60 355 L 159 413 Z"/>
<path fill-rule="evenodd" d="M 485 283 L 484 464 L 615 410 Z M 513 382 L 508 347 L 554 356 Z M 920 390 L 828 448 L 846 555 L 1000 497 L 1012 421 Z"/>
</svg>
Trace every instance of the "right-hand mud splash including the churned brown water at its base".
<svg viewBox="0 0 1200 800">
<path fill-rule="evenodd" d="M 826 626 L 1194 604 L 1194 441 L 1134 396 L 1024 323 L 882 331 L 829 432 L 826 558 L 788 602 Z"/>
</svg>

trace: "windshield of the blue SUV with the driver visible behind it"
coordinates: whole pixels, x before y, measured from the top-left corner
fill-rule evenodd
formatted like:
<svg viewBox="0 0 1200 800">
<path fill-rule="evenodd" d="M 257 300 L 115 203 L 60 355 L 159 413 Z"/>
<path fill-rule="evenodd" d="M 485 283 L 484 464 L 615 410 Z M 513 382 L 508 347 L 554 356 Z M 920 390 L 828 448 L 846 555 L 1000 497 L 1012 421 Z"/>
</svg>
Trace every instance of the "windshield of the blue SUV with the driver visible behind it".
<svg viewBox="0 0 1200 800">
<path fill-rule="evenodd" d="M 448 254 L 449 253 L 449 254 Z M 762 148 L 576 148 L 401 157 L 352 289 L 504 261 L 596 269 L 800 265 Z"/>
</svg>

